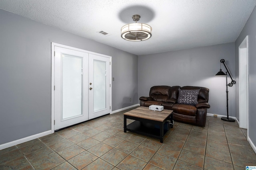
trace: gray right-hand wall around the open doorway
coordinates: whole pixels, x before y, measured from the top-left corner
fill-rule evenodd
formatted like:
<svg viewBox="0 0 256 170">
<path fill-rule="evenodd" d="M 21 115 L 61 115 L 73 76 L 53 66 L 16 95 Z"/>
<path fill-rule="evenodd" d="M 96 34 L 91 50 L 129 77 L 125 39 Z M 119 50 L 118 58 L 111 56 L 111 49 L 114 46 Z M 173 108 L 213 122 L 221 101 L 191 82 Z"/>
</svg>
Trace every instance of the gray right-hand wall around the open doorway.
<svg viewBox="0 0 256 170">
<path fill-rule="evenodd" d="M 255 110 L 256 110 L 256 105 L 255 105 L 255 101 L 256 101 L 256 89 L 255 84 L 256 84 L 256 8 L 254 8 L 250 18 L 248 19 L 248 21 L 246 22 L 246 25 L 244 26 L 244 28 L 242 29 L 239 37 L 236 39 L 236 77 L 237 77 L 237 81 L 238 82 L 238 72 L 239 72 L 239 65 L 238 65 L 238 47 L 239 45 L 242 43 L 242 41 L 244 40 L 244 38 L 246 37 L 246 35 L 248 35 L 248 72 L 249 72 L 249 94 L 248 94 L 248 105 L 249 105 L 249 137 L 252 141 L 252 143 L 254 143 L 254 145 L 256 145 L 256 133 L 255 130 L 256 129 L 256 114 L 255 114 Z M 239 84 L 238 84 L 239 85 Z M 238 88 L 237 88 L 237 95 L 236 95 L 236 103 L 238 106 Z M 238 112 L 238 107 L 237 107 L 237 114 L 236 117 L 239 116 L 239 112 Z"/>
</svg>

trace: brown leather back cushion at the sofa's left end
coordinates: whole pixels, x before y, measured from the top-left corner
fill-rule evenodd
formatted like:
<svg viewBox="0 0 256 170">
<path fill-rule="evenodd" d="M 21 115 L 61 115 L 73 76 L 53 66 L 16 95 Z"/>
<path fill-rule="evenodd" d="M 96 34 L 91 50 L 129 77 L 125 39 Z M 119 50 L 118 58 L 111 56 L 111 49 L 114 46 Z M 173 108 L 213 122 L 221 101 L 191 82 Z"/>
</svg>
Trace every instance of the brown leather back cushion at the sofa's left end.
<svg viewBox="0 0 256 170">
<path fill-rule="evenodd" d="M 165 102 L 170 95 L 170 86 L 153 86 L 150 88 L 149 96 L 155 101 Z"/>
</svg>

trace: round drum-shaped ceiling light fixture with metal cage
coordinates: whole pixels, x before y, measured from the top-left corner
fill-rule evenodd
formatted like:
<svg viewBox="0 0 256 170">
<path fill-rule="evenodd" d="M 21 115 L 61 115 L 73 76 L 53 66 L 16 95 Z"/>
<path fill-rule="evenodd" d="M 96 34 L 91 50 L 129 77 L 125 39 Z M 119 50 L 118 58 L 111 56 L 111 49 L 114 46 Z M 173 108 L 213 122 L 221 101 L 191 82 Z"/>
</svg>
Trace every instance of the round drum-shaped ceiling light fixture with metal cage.
<svg viewBox="0 0 256 170">
<path fill-rule="evenodd" d="M 137 23 L 140 20 L 140 15 L 132 16 L 135 23 L 124 25 L 121 28 L 121 37 L 128 41 L 144 41 L 152 37 L 152 28 L 145 23 Z"/>
</svg>

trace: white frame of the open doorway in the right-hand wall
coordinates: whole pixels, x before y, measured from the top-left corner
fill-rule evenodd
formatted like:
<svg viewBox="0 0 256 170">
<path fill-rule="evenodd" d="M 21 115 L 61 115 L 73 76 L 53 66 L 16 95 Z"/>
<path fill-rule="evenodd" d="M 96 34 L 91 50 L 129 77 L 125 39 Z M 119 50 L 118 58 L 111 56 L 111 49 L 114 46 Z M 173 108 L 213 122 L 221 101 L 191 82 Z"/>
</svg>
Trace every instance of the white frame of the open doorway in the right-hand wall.
<svg viewBox="0 0 256 170">
<path fill-rule="evenodd" d="M 247 129 L 248 136 L 248 35 L 242 41 L 242 43 L 238 47 L 239 54 L 239 127 Z M 242 83 L 242 76 L 244 76 L 244 72 L 242 72 L 242 64 L 246 65 L 246 84 Z M 246 89 L 246 96 L 242 96 L 242 89 Z M 241 101 L 246 101 L 246 104 L 242 104 Z M 246 106 L 244 106 L 246 105 Z M 246 108 L 246 113 L 244 109 Z M 242 115 L 246 115 L 246 119 L 242 119 Z M 245 125 L 246 124 L 246 125 Z"/>
</svg>

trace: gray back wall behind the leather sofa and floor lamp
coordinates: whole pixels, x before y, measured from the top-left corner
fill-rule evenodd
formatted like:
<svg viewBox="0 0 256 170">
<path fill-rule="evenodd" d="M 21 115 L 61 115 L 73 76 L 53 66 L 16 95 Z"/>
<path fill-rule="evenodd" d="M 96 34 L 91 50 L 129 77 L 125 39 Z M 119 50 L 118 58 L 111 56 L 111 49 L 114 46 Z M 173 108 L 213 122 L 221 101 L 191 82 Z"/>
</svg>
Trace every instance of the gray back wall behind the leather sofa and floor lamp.
<svg viewBox="0 0 256 170">
<path fill-rule="evenodd" d="M 226 43 L 138 57 L 138 97 L 148 96 L 150 87 L 201 86 L 210 89 L 207 113 L 226 115 L 226 78 L 214 76 L 225 59 L 235 77 L 235 44 Z M 225 68 L 222 64 L 222 71 Z M 228 82 L 231 82 L 228 79 Z M 229 115 L 236 116 L 236 87 L 228 88 Z"/>
</svg>

